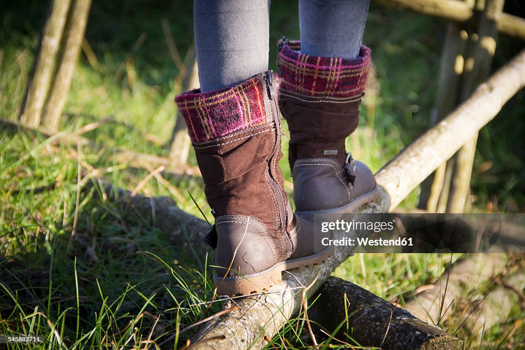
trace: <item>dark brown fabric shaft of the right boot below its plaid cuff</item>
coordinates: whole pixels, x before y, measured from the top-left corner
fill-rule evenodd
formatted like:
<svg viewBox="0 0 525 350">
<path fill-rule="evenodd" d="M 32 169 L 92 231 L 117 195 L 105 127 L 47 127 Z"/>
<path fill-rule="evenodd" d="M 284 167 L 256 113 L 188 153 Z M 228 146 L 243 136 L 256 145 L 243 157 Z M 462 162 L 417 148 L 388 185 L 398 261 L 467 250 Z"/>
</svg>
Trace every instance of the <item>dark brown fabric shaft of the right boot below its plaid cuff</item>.
<svg viewBox="0 0 525 350">
<path fill-rule="evenodd" d="M 327 99 L 281 89 L 280 97 L 290 130 L 290 166 L 299 158 L 316 157 L 334 158 L 343 166 L 344 140 L 359 124 L 361 96 Z"/>
</svg>

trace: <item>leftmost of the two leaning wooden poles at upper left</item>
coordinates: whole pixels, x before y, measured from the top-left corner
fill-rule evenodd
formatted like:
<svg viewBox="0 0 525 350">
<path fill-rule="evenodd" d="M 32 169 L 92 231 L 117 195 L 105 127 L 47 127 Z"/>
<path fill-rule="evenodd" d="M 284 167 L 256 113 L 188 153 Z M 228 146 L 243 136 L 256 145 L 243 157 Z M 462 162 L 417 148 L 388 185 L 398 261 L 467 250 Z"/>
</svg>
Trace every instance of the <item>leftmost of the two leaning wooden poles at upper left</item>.
<svg viewBox="0 0 525 350">
<path fill-rule="evenodd" d="M 53 0 L 50 2 L 50 14 L 40 36 L 33 71 L 27 84 L 26 96 L 20 108 L 20 121 L 32 128 L 37 128 L 40 125 L 70 2 L 70 0 Z"/>
</svg>

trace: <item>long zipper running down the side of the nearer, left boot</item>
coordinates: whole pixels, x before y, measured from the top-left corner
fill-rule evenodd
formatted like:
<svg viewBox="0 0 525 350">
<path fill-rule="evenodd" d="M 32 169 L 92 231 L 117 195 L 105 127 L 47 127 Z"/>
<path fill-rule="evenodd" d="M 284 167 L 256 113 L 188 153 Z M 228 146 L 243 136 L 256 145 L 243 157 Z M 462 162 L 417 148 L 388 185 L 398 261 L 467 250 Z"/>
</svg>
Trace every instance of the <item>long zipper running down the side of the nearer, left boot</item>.
<svg viewBox="0 0 525 350">
<path fill-rule="evenodd" d="M 276 142 L 274 146 L 274 150 L 272 151 L 272 154 L 270 156 L 270 160 L 276 155 L 276 153 L 279 151 L 281 146 L 281 130 L 279 126 L 279 113 L 278 113 L 278 106 L 276 101 L 276 90 L 274 86 L 274 75 L 271 70 L 267 71 L 264 75 L 264 80 L 266 82 L 266 88 L 268 92 L 268 98 L 271 101 L 271 113 L 274 117 L 274 122 L 276 125 Z M 281 187 L 277 183 L 276 179 L 272 177 L 269 168 L 266 169 L 266 178 L 268 180 L 268 183 L 274 190 L 275 197 L 277 198 L 277 204 L 279 206 L 279 219 L 281 222 L 281 228 L 286 231 L 286 208 L 285 208 L 285 198 L 284 194 L 282 193 Z M 286 240 L 288 244 L 288 251 L 291 252 L 292 247 L 290 241 Z"/>
</svg>

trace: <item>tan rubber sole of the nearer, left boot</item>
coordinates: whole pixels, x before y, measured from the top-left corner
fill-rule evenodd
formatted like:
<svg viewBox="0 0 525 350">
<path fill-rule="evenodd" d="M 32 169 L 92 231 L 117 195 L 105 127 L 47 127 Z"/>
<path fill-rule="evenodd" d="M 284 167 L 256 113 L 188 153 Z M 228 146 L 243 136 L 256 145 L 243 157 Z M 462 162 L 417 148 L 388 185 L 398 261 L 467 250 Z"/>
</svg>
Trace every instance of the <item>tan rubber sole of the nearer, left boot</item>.
<svg viewBox="0 0 525 350">
<path fill-rule="evenodd" d="M 214 277 L 214 285 L 217 288 L 217 295 L 249 295 L 269 291 L 271 287 L 282 280 L 282 271 L 296 268 L 319 265 L 325 262 L 334 250 L 333 246 L 320 253 L 307 257 L 281 261 L 269 269 L 261 272 L 246 274 L 235 277 Z"/>
</svg>

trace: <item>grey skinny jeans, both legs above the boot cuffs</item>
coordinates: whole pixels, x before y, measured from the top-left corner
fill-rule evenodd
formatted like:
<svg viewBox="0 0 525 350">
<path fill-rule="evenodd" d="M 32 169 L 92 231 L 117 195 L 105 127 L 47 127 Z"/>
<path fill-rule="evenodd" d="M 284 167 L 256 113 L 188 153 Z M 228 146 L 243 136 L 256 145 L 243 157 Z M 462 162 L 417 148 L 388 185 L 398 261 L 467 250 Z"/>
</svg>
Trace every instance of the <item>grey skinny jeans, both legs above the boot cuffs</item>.
<svg viewBox="0 0 525 350">
<path fill-rule="evenodd" d="M 354 59 L 370 0 L 299 0 L 301 51 Z M 268 70 L 269 0 L 195 0 L 201 92 L 234 86 Z"/>
</svg>

